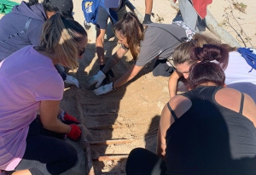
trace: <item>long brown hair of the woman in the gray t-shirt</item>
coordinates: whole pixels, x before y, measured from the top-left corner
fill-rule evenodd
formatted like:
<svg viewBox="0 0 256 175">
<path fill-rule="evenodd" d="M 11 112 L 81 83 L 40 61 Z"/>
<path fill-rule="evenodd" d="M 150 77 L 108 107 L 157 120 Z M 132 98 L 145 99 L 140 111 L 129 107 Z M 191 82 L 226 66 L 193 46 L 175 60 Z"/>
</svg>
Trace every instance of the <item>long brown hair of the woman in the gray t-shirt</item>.
<svg viewBox="0 0 256 175">
<path fill-rule="evenodd" d="M 123 19 L 113 25 L 113 31 L 119 31 L 126 37 L 133 59 L 137 59 L 140 53 L 140 42 L 144 38 L 144 27 L 137 16 L 131 12 L 124 14 Z"/>
</svg>

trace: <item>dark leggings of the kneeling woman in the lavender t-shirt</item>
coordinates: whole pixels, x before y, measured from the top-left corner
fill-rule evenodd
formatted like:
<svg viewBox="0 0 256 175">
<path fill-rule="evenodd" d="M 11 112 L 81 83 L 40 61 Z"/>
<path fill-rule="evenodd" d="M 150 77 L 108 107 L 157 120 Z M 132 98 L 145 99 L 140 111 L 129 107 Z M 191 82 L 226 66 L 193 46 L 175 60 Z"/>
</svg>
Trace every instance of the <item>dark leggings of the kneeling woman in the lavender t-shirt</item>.
<svg viewBox="0 0 256 175">
<path fill-rule="evenodd" d="M 25 154 L 15 171 L 28 169 L 35 175 L 60 174 L 77 161 L 78 153 L 71 144 L 43 135 L 38 122 L 33 121 L 26 138 Z"/>
</svg>

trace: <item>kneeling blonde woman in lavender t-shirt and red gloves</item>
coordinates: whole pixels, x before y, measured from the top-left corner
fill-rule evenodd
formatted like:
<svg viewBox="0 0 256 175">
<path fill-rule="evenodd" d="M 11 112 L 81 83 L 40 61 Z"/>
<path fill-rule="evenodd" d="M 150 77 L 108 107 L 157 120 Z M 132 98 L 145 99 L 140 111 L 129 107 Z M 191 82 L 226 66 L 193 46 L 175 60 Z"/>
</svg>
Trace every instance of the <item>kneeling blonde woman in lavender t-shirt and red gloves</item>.
<svg viewBox="0 0 256 175">
<path fill-rule="evenodd" d="M 64 83 L 55 64 L 76 69 L 87 33 L 56 13 L 43 27 L 40 45 L 26 46 L 0 63 L 0 169 L 12 174 L 60 174 L 73 167 L 79 121 L 60 109 Z M 40 116 L 37 116 L 38 110 Z"/>
</svg>

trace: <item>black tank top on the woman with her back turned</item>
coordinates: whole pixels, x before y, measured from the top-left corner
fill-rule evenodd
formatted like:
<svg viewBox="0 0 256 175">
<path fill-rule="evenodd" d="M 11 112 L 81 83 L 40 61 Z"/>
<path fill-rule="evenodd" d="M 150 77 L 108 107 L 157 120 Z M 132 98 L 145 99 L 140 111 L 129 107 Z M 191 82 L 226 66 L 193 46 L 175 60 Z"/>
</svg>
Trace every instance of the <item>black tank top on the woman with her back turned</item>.
<svg viewBox="0 0 256 175">
<path fill-rule="evenodd" d="M 256 174 L 256 132 L 241 115 L 243 99 L 241 113 L 229 110 L 215 101 L 219 89 L 182 94 L 192 106 L 166 132 L 167 174 Z"/>
</svg>

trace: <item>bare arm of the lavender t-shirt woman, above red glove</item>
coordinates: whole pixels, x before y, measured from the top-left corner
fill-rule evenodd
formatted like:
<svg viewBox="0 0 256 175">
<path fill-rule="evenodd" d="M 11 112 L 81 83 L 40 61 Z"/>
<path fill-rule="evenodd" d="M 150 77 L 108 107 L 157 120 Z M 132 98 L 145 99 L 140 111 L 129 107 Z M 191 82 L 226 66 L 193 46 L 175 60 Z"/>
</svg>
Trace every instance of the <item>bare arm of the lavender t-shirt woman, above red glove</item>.
<svg viewBox="0 0 256 175">
<path fill-rule="evenodd" d="M 68 133 L 70 127 L 58 120 L 60 101 L 45 100 L 40 104 L 40 120 L 45 129 L 55 133 Z"/>
</svg>

